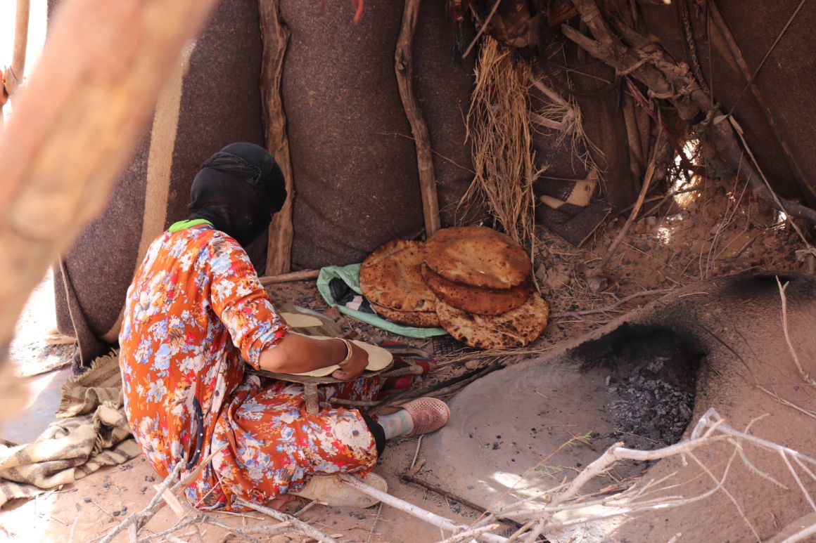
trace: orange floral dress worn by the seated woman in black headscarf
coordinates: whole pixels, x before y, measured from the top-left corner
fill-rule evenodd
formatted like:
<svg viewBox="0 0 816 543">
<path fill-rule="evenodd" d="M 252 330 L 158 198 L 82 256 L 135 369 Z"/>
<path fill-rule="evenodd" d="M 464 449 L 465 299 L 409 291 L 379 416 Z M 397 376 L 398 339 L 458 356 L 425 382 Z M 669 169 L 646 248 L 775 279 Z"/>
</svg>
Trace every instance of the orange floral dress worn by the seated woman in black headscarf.
<svg viewBox="0 0 816 543">
<path fill-rule="evenodd" d="M 222 446 L 186 489 L 202 510 L 242 510 L 298 491 L 312 474 L 367 471 L 377 452 L 361 414 L 329 397 L 370 400 L 375 380 L 322 389 L 306 413 L 303 388 L 244 372 L 288 325 L 241 245 L 209 224 L 165 232 L 127 292 L 119 336 L 125 409 L 144 457 L 182 475 Z"/>
</svg>

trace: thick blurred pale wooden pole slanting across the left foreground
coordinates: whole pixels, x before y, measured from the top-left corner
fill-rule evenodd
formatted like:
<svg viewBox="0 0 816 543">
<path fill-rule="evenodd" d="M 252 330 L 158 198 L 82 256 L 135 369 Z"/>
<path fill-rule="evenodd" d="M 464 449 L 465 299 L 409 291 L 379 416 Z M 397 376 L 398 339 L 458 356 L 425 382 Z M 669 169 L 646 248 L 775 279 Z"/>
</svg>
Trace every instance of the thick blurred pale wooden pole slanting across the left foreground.
<svg viewBox="0 0 816 543">
<path fill-rule="evenodd" d="M 73 0 L 57 11 L 0 134 L 0 366 L 29 293 L 103 210 L 180 51 L 214 4 Z"/>
</svg>

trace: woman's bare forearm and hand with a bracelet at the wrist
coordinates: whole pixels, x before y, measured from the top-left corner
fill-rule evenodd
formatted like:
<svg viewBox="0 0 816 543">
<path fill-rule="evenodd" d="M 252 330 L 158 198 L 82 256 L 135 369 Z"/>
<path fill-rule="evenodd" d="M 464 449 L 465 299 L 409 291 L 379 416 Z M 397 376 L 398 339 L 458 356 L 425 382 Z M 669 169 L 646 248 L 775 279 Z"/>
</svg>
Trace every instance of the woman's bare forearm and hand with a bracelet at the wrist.
<svg viewBox="0 0 816 543">
<path fill-rule="evenodd" d="M 351 381 L 360 376 L 368 365 L 368 353 L 357 345 L 343 368 L 332 377 Z M 304 373 L 313 369 L 339 364 L 346 358 L 346 343 L 341 339 L 315 339 L 297 333 L 287 333 L 275 347 L 262 351 L 258 360 L 261 369 L 275 373 Z"/>
</svg>

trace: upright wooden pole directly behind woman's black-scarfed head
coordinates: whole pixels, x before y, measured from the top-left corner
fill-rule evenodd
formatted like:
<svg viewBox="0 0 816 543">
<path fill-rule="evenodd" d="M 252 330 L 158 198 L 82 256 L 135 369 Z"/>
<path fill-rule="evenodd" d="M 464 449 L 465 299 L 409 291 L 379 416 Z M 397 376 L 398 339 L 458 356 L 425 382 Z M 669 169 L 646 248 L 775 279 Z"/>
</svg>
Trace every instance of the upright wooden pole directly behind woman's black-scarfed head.
<svg viewBox="0 0 816 543">
<path fill-rule="evenodd" d="M 260 91 L 264 108 L 266 148 L 281 166 L 286 179 L 286 202 L 269 225 L 269 241 L 266 253 L 268 276 L 289 272 L 291 266 L 292 204 L 295 201 L 295 183 L 292 179 L 292 160 L 289 152 L 289 136 L 286 134 L 286 112 L 283 109 L 281 82 L 289 28 L 281 20 L 280 0 L 259 0 L 260 33 L 264 42 L 261 61 Z"/>
</svg>

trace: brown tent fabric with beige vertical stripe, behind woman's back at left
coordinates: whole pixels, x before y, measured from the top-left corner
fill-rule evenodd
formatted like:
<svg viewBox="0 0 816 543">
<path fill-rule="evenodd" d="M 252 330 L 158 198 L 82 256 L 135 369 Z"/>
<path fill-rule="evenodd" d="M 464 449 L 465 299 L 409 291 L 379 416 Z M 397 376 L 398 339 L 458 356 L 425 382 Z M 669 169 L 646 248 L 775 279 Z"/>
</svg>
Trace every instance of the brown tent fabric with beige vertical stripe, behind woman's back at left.
<svg viewBox="0 0 816 543">
<path fill-rule="evenodd" d="M 82 232 L 55 274 L 60 332 L 79 341 L 75 371 L 116 342 L 135 267 L 153 239 L 187 217 L 198 166 L 227 143 L 264 143 L 257 2 L 220 2 L 185 53 L 108 207 Z M 263 239 L 250 250 L 261 272 L 265 249 Z"/>
</svg>

